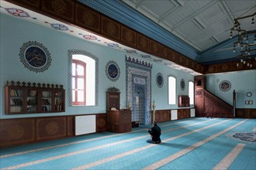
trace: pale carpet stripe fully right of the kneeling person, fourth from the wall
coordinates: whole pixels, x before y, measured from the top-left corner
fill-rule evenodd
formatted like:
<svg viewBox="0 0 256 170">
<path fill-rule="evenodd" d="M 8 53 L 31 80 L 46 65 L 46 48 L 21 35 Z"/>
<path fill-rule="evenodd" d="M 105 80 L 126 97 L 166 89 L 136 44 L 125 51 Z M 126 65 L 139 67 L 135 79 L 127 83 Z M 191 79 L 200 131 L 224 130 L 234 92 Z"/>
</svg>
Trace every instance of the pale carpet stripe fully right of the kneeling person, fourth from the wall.
<svg viewBox="0 0 256 170">
<path fill-rule="evenodd" d="M 175 159 L 182 157 L 183 155 L 189 153 L 190 151 L 193 151 L 195 148 L 199 148 L 199 146 L 206 144 L 206 142 L 211 141 L 211 140 L 213 140 L 214 138 L 217 138 L 218 136 L 220 136 L 220 135 L 226 133 L 227 131 L 230 131 L 230 130 L 233 129 L 233 128 L 236 128 L 236 127 L 239 126 L 240 124 L 244 124 L 245 121 L 247 121 L 247 120 L 244 120 L 244 121 L 241 121 L 241 122 L 239 122 L 239 123 L 237 123 L 237 124 L 234 124 L 234 125 L 231 126 L 230 128 L 227 128 L 227 129 L 225 129 L 225 130 L 223 130 L 223 131 L 220 131 L 219 133 L 214 134 L 214 135 L 210 136 L 209 138 L 206 138 L 206 139 L 204 139 L 204 140 L 202 140 L 202 141 L 199 141 L 199 142 L 197 142 L 196 144 L 191 145 L 191 146 L 189 146 L 188 148 L 182 149 L 181 151 L 178 151 L 178 152 L 175 153 L 174 155 L 170 155 L 170 156 L 168 156 L 167 158 L 164 158 L 164 159 L 162 159 L 162 160 L 159 161 L 159 162 L 155 162 L 154 164 L 149 165 L 149 166 L 147 166 L 147 167 L 145 167 L 145 168 L 143 168 L 143 169 L 157 169 L 157 168 L 160 168 L 161 166 L 164 166 L 164 165 L 166 165 L 166 164 L 168 164 L 168 163 L 174 161 Z"/>
</svg>

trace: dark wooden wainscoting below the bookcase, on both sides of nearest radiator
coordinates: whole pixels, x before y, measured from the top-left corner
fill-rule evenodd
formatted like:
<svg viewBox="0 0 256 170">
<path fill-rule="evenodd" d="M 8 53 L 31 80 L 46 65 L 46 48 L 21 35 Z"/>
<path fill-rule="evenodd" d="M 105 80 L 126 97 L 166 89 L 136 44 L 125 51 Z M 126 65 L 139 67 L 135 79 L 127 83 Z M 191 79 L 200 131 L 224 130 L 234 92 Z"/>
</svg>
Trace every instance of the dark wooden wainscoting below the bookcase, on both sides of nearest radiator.
<svg viewBox="0 0 256 170">
<path fill-rule="evenodd" d="M 96 133 L 106 131 L 106 113 L 95 115 Z M 74 116 L 1 119 L 0 134 L 0 148 L 72 137 Z"/>
</svg>

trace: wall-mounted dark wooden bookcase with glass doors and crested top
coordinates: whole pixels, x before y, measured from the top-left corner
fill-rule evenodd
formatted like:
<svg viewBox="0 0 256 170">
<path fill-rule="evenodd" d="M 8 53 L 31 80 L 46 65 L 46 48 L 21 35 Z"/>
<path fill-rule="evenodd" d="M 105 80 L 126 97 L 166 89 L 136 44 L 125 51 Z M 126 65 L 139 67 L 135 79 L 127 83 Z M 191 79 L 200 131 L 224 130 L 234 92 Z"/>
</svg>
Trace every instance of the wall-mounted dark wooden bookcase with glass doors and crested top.
<svg viewBox="0 0 256 170">
<path fill-rule="evenodd" d="M 65 111 L 62 85 L 7 82 L 5 114 L 51 113 Z"/>
</svg>

